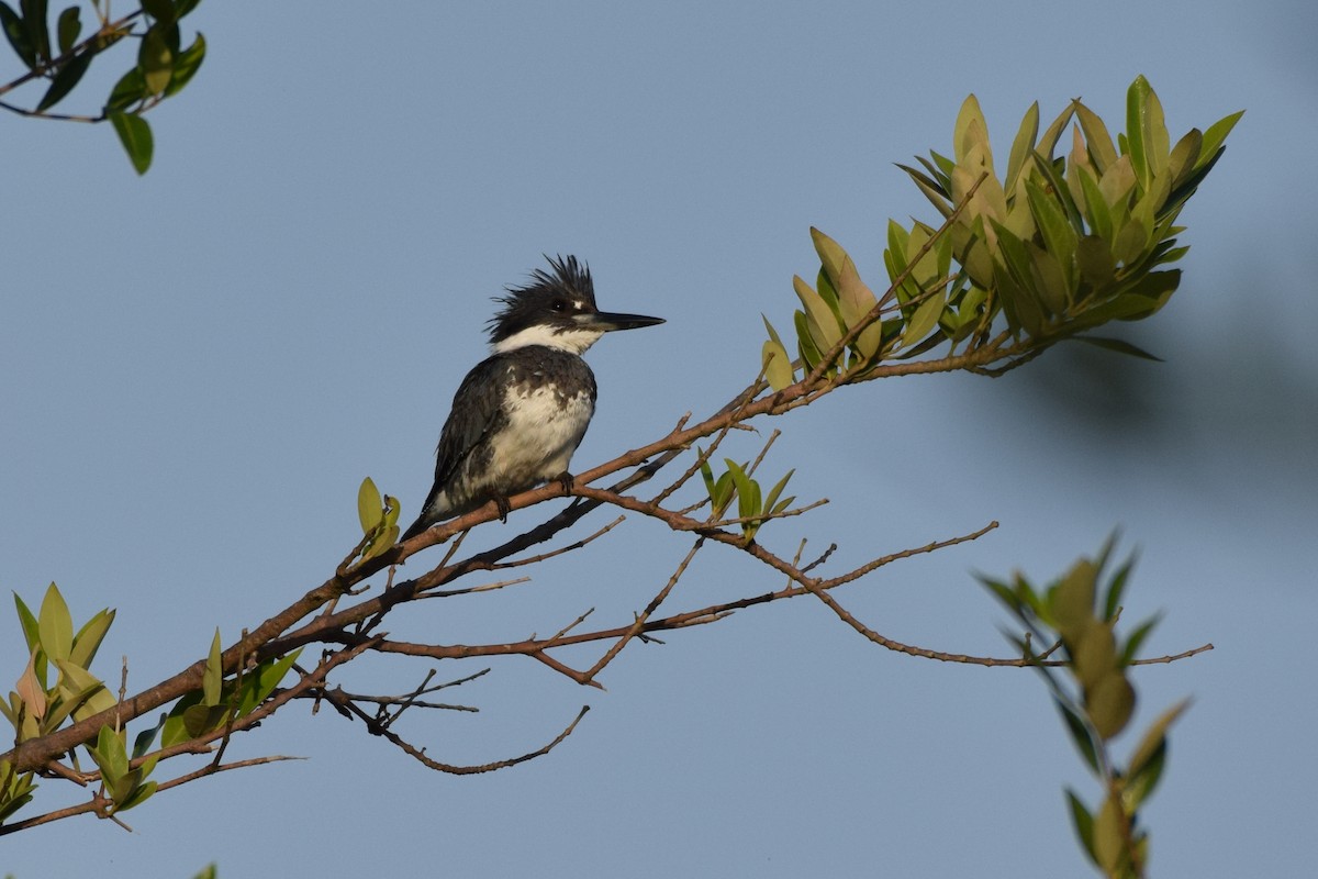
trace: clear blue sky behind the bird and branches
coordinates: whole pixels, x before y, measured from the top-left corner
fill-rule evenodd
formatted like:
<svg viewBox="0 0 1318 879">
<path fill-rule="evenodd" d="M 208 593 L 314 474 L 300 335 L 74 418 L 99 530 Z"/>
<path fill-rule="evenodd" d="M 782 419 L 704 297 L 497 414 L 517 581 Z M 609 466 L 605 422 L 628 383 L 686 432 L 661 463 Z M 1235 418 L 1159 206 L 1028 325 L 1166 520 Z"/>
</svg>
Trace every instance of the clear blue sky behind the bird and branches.
<svg viewBox="0 0 1318 879">
<path fill-rule="evenodd" d="M 892 163 L 946 152 L 966 94 L 1000 153 L 1036 99 L 1050 117 L 1083 96 L 1119 128 L 1143 72 L 1173 136 L 1248 111 L 1182 215 L 1181 290 L 1123 328 L 1166 362 L 1060 351 L 1000 381 L 870 383 L 766 424 L 784 430 L 767 465 L 832 503 L 762 540 L 837 542 L 842 569 L 996 519 L 837 597 L 899 640 L 1004 654 L 971 573 L 1046 580 L 1122 528 L 1140 548 L 1126 618 L 1165 614 L 1149 652 L 1217 646 L 1136 677 L 1137 726 L 1195 698 L 1145 816 L 1155 872 L 1297 875 L 1318 783 L 1315 17 L 1300 3 L 203 4 L 188 21 L 211 51 L 152 116 L 145 178 L 108 129 L 0 119 L 0 588 L 38 601 L 55 580 L 78 617 L 117 608 L 103 672 L 127 655 L 146 687 L 215 626 L 232 639 L 320 582 L 356 540 L 364 476 L 414 514 L 489 298 L 542 253 L 589 260 L 602 307 L 668 319 L 592 349 L 580 470 L 746 383 L 759 314 L 787 326 L 792 274 L 817 268 L 812 224 L 878 286 L 887 219 L 932 213 Z M 739 441 L 730 453 L 758 448 Z M 633 518 L 588 559 L 391 631 L 506 640 L 592 606 L 630 621 L 687 546 Z M 770 585 L 714 550 L 673 602 Z M 406 730 L 485 763 L 592 706 L 526 766 L 442 776 L 294 708 L 231 756 L 307 760 L 162 795 L 125 816 L 132 834 L 83 818 L 8 837 L 0 874 L 1085 875 L 1061 785 L 1094 787 L 1033 675 L 887 654 L 805 600 L 666 640 L 629 648 L 604 693 L 496 663 L 453 691 L 481 713 Z M 12 619 L 0 651 L 16 679 Z M 374 662 L 343 684 L 402 692 L 424 669 Z"/>
</svg>

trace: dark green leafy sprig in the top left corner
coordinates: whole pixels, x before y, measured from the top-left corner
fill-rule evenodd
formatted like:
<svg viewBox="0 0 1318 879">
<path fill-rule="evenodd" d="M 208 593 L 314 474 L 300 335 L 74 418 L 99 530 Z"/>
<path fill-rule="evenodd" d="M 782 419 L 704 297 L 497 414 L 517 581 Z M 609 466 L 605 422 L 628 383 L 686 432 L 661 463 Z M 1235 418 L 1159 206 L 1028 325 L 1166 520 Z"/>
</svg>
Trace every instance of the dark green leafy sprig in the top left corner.
<svg viewBox="0 0 1318 879">
<path fill-rule="evenodd" d="M 29 83 L 45 83 L 45 91 L 34 103 L 18 105 L 0 100 L 0 108 L 41 119 L 108 121 L 133 169 L 145 174 L 152 165 L 154 137 L 144 113 L 181 92 L 206 59 L 206 38 L 198 33 L 185 47 L 179 33 L 179 22 L 199 3 L 141 0 L 137 11 L 111 18 L 109 0 L 94 0 L 90 5 L 98 24 L 95 33 L 87 37 L 82 36 L 82 8 L 71 5 L 57 17 L 51 41 L 46 0 L 22 0 L 17 9 L 0 1 L 0 25 L 9 47 L 28 70 L 0 86 L 0 98 Z M 100 112 L 79 116 L 51 112 L 82 82 L 92 62 L 124 40 L 137 41 L 137 58 L 115 83 Z"/>
</svg>

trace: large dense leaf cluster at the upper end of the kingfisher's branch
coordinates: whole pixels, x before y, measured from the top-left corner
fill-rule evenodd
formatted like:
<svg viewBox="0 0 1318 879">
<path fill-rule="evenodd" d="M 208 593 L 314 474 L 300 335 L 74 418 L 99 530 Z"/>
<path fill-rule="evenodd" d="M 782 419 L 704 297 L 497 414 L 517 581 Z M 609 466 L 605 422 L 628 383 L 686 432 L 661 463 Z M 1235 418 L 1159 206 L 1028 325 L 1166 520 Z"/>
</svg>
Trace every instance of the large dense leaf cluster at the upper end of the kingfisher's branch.
<svg viewBox="0 0 1318 879">
<path fill-rule="evenodd" d="M 763 362 L 782 390 L 797 369 L 855 381 L 886 360 L 908 360 L 942 343 L 983 349 L 999 318 L 1011 352 L 1032 356 L 1079 339 L 1148 357 L 1133 345 L 1085 335 L 1111 320 L 1140 320 L 1166 304 L 1181 273 L 1161 269 L 1185 256 L 1177 246 L 1181 208 L 1220 158 L 1242 113 L 1206 132 L 1190 129 L 1169 146 L 1162 104 L 1144 76 L 1126 98 L 1127 132 L 1072 101 L 1039 136 L 1031 105 L 1012 142 L 1006 177 L 994 167 L 988 127 L 969 96 L 957 116 L 953 153 L 931 152 L 924 170 L 900 166 L 942 215 L 946 233 L 916 220 L 888 221 L 883 253 L 891 287 L 876 299 L 851 257 L 818 229 L 815 287 L 793 278 L 799 364 L 770 326 Z M 1053 157 L 1072 124 L 1068 157 Z M 766 326 L 768 322 L 766 320 Z M 838 349 L 836 353 L 834 349 Z"/>
</svg>

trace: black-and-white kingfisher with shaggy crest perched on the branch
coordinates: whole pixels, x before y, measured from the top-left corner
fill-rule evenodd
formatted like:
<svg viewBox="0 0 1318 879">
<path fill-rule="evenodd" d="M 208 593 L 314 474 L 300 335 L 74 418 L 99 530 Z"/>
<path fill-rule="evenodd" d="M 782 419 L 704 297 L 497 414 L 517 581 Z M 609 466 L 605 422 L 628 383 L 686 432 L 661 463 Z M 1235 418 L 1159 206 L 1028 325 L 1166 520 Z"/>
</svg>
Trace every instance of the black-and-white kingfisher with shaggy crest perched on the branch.
<svg viewBox="0 0 1318 879">
<path fill-rule="evenodd" d="M 489 323 L 493 353 L 453 395 L 435 485 L 403 540 L 490 501 L 506 521 L 509 496 L 551 478 L 571 488 L 568 463 L 594 414 L 594 373 L 583 352 L 606 332 L 663 323 L 600 311 L 590 269 L 576 257 L 550 260 L 550 268 L 496 299 L 503 308 Z"/>
</svg>

